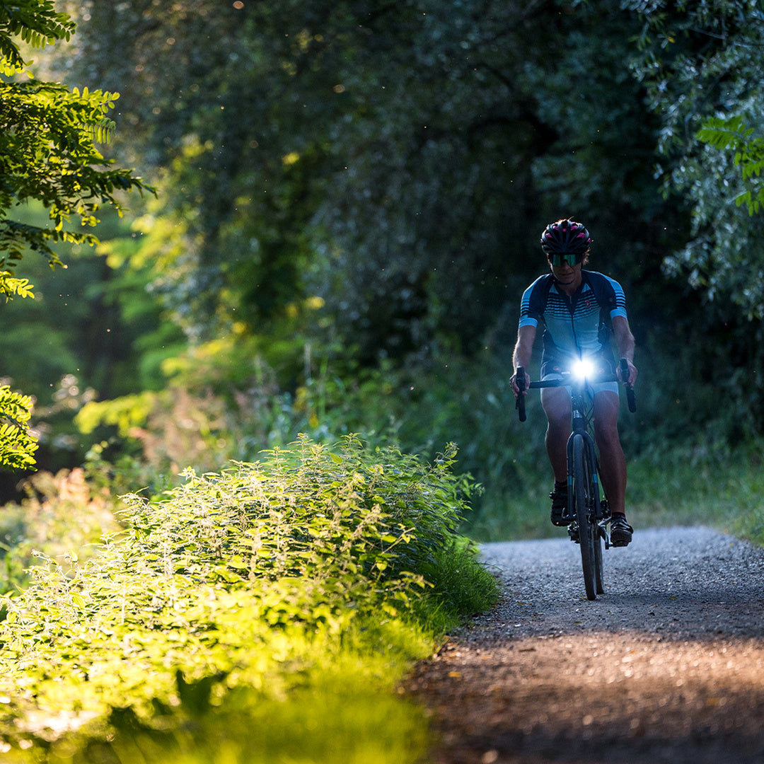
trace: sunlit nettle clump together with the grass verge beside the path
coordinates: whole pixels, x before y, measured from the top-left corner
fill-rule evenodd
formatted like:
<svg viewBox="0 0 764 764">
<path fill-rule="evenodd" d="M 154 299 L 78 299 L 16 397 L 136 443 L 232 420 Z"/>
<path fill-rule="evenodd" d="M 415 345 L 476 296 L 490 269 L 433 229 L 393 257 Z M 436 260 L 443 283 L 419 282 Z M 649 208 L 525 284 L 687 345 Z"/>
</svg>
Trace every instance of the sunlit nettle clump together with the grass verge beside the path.
<svg viewBox="0 0 764 764">
<path fill-rule="evenodd" d="M 310 720 L 347 735 L 332 698 L 361 714 L 370 693 L 392 714 L 384 695 L 406 663 L 495 600 L 455 530 L 466 506 L 453 458 L 302 438 L 256 464 L 189 471 L 160 500 L 126 497 L 124 533 L 86 562 L 41 555 L 31 587 L 5 600 L 5 753 L 23 761 L 31 742 L 38 761 L 96 748 L 125 761 L 131 746 L 180 746 L 203 762 L 221 725 L 244 749 L 255 724 L 268 750 L 293 714 L 312 760 L 350 760 L 337 751 L 356 740 L 321 753 Z M 378 714 L 362 723 L 376 733 Z"/>
</svg>

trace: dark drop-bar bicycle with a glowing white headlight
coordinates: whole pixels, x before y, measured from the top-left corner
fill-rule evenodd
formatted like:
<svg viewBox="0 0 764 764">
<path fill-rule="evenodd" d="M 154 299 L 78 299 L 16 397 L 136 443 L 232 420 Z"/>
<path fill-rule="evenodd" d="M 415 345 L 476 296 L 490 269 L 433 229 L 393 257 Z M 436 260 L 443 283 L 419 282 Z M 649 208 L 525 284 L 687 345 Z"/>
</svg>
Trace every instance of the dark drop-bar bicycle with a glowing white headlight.
<svg viewBox="0 0 764 764">
<path fill-rule="evenodd" d="M 586 361 L 581 361 L 586 364 Z M 636 412 L 634 389 L 629 384 L 629 364 L 625 358 L 620 360 L 621 380 L 626 387 L 626 398 L 630 412 Z M 520 422 L 526 420 L 525 410 L 525 369 L 518 367 L 516 384 L 520 392 L 516 400 L 516 409 Z M 531 382 L 529 389 L 542 387 L 570 387 L 571 389 L 571 434 L 568 438 L 568 507 L 562 519 L 569 520 L 568 536 L 571 541 L 581 546 L 581 566 L 584 571 L 584 588 L 590 600 L 596 600 L 597 594 L 604 594 L 604 572 L 602 544 L 610 549 L 610 536 L 607 523 L 610 520 L 610 507 L 607 496 L 600 499 L 600 465 L 597 445 L 594 442 L 592 428 L 592 403 L 588 395 L 588 384 L 596 382 L 615 382 L 615 374 L 597 375 L 584 367 L 573 372 L 563 372 L 562 378 Z"/>
</svg>

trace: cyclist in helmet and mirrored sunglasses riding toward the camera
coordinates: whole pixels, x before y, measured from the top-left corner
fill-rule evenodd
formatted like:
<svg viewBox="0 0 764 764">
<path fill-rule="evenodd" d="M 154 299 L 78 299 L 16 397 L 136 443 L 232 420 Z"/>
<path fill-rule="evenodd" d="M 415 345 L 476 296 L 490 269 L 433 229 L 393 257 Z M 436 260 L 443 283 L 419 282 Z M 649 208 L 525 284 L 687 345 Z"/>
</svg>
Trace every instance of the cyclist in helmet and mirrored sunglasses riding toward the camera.
<svg viewBox="0 0 764 764">
<path fill-rule="evenodd" d="M 613 335 L 620 353 L 629 364 L 629 384 L 636 380 L 633 364 L 634 337 L 626 317 L 626 299 L 620 284 L 603 274 L 584 270 L 592 238 L 579 222 L 560 219 L 542 232 L 541 248 L 551 273 L 534 281 L 523 293 L 520 327 L 513 361 L 511 384 L 515 396 L 518 367 L 527 369 L 531 361 L 536 328 L 544 327 L 541 379 L 560 378 L 579 358 L 591 358 L 612 374 L 615 367 L 610 349 Z M 620 378 L 620 370 L 615 370 Z M 526 390 L 530 377 L 526 371 Z M 610 540 L 613 546 L 626 546 L 633 528 L 626 522 L 626 458 L 618 436 L 618 384 L 591 385 L 594 406 L 594 438 L 600 450 L 601 477 L 610 503 Z M 555 474 L 552 523 L 562 520 L 568 502 L 567 442 L 571 425 L 571 399 L 566 387 L 545 387 L 541 403 L 547 417 L 546 451 Z"/>
</svg>

